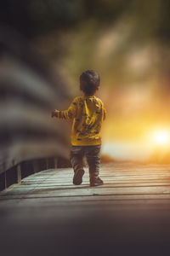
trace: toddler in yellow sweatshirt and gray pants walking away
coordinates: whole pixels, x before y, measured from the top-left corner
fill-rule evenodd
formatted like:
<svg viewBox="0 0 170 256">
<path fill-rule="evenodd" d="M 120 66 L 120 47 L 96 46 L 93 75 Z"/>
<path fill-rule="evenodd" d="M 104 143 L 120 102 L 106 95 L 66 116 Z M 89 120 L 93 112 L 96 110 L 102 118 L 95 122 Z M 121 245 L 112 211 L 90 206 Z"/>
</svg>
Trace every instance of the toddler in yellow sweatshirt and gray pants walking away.
<svg viewBox="0 0 170 256">
<path fill-rule="evenodd" d="M 99 90 L 99 74 L 87 70 L 80 76 L 80 90 L 83 96 L 77 96 L 68 110 L 54 110 L 52 117 L 69 119 L 71 127 L 71 164 L 74 169 L 73 183 L 82 183 L 83 157 L 88 161 L 90 186 L 99 186 L 103 181 L 99 177 L 101 136 L 100 130 L 105 119 L 104 103 L 95 95 Z"/>
</svg>

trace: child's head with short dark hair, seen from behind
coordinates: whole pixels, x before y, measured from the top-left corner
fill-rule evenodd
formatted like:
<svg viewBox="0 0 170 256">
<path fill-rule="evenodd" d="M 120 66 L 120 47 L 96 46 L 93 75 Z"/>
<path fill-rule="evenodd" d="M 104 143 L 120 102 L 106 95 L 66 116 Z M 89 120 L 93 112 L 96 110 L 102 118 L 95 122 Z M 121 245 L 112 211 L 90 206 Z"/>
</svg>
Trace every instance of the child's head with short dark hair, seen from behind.
<svg viewBox="0 0 170 256">
<path fill-rule="evenodd" d="M 80 76 L 80 89 L 85 96 L 94 96 L 95 92 L 99 90 L 99 74 L 94 70 L 84 71 Z"/>
</svg>

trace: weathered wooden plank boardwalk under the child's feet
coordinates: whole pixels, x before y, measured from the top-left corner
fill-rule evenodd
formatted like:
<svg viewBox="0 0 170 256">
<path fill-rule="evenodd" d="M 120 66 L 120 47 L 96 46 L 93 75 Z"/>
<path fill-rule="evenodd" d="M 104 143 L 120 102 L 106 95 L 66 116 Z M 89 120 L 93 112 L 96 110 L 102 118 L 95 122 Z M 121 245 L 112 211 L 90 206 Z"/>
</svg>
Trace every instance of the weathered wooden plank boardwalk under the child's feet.
<svg viewBox="0 0 170 256">
<path fill-rule="evenodd" d="M 170 166 L 101 166 L 105 184 L 79 186 L 50 169 L 0 193 L 5 255 L 169 255 Z"/>
</svg>

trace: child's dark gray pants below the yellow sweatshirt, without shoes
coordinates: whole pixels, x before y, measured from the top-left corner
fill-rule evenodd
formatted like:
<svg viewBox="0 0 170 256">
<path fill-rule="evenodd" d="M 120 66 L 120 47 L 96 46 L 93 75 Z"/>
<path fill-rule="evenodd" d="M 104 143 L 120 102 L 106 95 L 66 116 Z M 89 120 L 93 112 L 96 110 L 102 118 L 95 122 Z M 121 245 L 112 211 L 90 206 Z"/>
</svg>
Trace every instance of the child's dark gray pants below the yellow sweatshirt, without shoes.
<svg viewBox="0 0 170 256">
<path fill-rule="evenodd" d="M 88 161 L 90 178 L 99 176 L 101 145 L 94 146 L 71 146 L 71 164 L 74 172 L 83 170 L 83 157 Z"/>
</svg>

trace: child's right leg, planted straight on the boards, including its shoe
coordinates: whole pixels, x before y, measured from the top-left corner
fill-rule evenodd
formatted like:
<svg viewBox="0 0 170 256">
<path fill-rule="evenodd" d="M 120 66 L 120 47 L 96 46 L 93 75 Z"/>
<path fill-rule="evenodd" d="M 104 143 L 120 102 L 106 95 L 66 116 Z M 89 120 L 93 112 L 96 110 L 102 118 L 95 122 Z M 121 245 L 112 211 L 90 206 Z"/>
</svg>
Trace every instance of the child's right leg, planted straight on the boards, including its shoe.
<svg viewBox="0 0 170 256">
<path fill-rule="evenodd" d="M 101 148 L 101 145 L 86 147 L 86 157 L 88 160 L 91 185 L 93 185 L 93 183 L 96 183 L 97 181 L 99 182 L 99 184 L 103 183 L 99 178 L 100 148 Z"/>
</svg>

